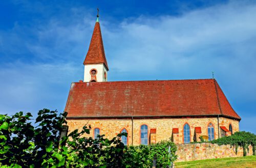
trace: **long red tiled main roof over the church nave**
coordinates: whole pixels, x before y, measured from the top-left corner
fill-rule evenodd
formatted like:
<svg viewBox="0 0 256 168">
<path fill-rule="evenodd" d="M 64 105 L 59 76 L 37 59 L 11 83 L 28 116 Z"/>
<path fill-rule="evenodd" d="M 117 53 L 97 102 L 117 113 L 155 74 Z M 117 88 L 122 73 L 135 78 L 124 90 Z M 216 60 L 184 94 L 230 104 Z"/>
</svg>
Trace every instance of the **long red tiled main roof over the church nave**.
<svg viewBox="0 0 256 168">
<path fill-rule="evenodd" d="M 241 119 L 215 79 L 74 82 L 65 111 L 68 117 L 220 115 Z"/>
</svg>

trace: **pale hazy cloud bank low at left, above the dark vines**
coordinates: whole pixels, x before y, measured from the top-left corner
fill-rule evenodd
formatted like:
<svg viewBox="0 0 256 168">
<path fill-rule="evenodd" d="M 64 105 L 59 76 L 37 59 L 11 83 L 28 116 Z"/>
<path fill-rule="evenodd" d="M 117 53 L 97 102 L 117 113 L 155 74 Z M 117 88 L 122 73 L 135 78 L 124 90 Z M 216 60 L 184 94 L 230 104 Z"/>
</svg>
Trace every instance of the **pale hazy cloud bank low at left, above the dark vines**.
<svg viewBox="0 0 256 168">
<path fill-rule="evenodd" d="M 0 68 L 0 113 L 19 110 L 36 113 L 50 108 L 62 111 L 72 81 L 79 72 L 74 64 L 8 64 Z M 18 111 L 17 111 L 18 110 Z"/>
</svg>

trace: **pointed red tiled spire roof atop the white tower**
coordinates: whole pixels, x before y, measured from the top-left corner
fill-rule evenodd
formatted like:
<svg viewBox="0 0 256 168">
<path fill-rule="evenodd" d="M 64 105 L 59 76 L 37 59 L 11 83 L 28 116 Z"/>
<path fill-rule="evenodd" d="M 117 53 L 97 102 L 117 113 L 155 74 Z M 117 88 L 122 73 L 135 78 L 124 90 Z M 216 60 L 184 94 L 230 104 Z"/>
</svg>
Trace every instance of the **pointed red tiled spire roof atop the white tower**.
<svg viewBox="0 0 256 168">
<path fill-rule="evenodd" d="M 89 50 L 86 55 L 86 59 L 84 60 L 83 64 L 105 64 L 106 68 L 109 70 L 108 63 L 106 62 L 104 46 L 100 31 L 99 22 L 95 23 L 93 36 L 91 39 L 91 43 L 89 46 Z"/>
</svg>

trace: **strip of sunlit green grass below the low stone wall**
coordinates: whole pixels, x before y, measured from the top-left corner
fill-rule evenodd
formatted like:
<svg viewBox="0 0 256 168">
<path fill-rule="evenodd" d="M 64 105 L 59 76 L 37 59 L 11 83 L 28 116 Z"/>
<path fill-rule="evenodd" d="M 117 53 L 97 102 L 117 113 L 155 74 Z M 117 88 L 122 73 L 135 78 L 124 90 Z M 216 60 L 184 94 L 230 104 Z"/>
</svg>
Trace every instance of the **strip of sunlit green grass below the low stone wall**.
<svg viewBox="0 0 256 168">
<path fill-rule="evenodd" d="M 175 167 L 256 167 L 256 156 L 176 162 Z"/>
</svg>

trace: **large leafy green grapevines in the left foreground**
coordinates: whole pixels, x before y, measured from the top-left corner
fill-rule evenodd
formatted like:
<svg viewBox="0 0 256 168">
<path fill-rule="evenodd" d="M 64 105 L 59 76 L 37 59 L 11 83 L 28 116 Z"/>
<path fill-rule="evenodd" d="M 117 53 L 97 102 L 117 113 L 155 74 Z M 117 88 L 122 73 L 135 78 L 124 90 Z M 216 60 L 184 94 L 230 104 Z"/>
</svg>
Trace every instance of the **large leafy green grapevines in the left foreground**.
<svg viewBox="0 0 256 168">
<path fill-rule="evenodd" d="M 84 126 L 60 139 L 67 113 L 40 110 L 35 124 L 32 115 L 0 115 L 0 166 L 3 167 L 151 167 L 153 156 L 165 166 L 176 159 L 177 147 L 172 142 L 149 146 L 124 146 L 120 133 L 113 139 L 98 135 L 84 137 L 90 127 Z M 34 126 L 35 125 L 35 126 Z M 171 147 L 172 158 L 166 150 Z"/>
</svg>

